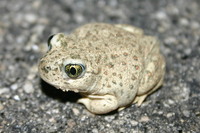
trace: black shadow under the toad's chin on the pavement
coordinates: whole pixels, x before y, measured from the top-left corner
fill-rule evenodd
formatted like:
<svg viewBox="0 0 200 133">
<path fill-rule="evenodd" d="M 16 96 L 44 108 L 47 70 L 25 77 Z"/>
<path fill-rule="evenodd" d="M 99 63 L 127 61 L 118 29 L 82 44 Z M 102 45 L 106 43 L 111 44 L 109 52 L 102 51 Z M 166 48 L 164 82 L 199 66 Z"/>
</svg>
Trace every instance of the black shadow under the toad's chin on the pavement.
<svg viewBox="0 0 200 133">
<path fill-rule="evenodd" d="M 69 102 L 76 102 L 79 98 L 81 98 L 81 95 L 79 93 L 75 93 L 72 91 L 68 92 L 63 92 L 60 89 L 57 89 L 50 84 L 46 83 L 41 79 L 41 89 L 44 94 L 47 96 L 53 98 L 53 99 L 58 99 L 59 101 L 65 103 L 67 101 Z"/>
</svg>

